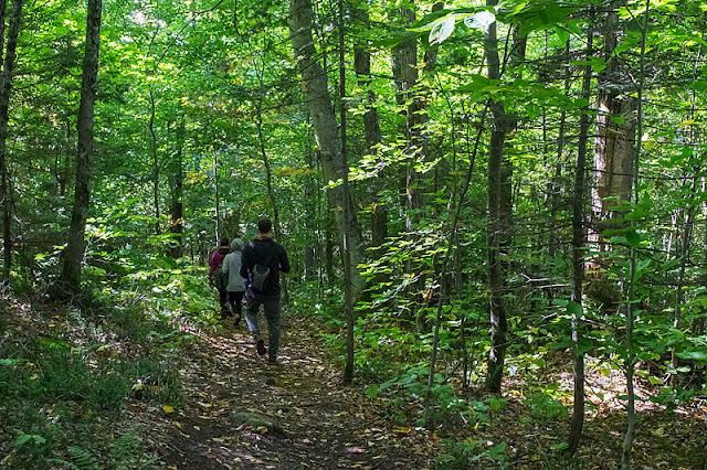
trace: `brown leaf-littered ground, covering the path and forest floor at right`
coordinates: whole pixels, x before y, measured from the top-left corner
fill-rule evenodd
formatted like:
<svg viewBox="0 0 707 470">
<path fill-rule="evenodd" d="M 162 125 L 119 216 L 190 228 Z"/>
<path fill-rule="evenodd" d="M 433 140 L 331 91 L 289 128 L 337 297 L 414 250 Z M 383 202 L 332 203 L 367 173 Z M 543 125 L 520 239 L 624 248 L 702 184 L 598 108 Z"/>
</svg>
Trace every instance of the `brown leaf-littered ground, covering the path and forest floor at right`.
<svg viewBox="0 0 707 470">
<path fill-rule="evenodd" d="M 62 314 L 38 313 L 15 303 L 7 309 L 3 341 L 18 337 L 51 337 Z M 370 399 L 367 384 L 345 386 L 318 340 L 310 319 L 283 316 L 281 365 L 258 356 L 244 322 L 223 329 L 189 329 L 199 339 L 178 353 L 150 352 L 140 344 L 112 344 L 116 354 L 165 354 L 178 371 L 184 403 L 169 407 L 158 399 L 128 398 L 127 409 L 109 432 L 129 431 L 156 457 L 162 469 L 407 469 L 435 468 L 435 458 L 450 452 L 445 439 L 473 444 L 473 452 L 444 469 L 616 469 L 620 467 L 625 413 L 620 396 L 625 380 L 588 359 L 588 419 L 577 458 L 568 461 L 553 446 L 567 438 L 569 420 L 550 417 L 547 405 L 528 403 L 530 382 L 571 387 L 571 354 L 548 355 L 545 367 L 518 371 L 504 383 L 503 404 L 474 424 L 447 415 L 434 429 L 397 425 L 386 399 Z M 211 332 L 209 332 L 211 331 Z M 81 332 L 73 332 L 81 342 Z M 92 339 L 95 341 L 96 339 Z M 109 343 L 109 339 L 104 339 Z M 95 354 L 101 353 L 101 348 Z M 146 389 L 159 384 L 144 384 Z M 647 398 L 648 384 L 640 383 Z M 157 394 L 158 395 L 158 394 Z M 488 395 L 469 388 L 464 397 L 484 403 Z M 571 403 L 563 403 L 571 408 Z M 537 413 L 539 407 L 544 413 Z M 639 402 L 635 469 L 707 469 L 707 402 L 696 399 L 675 410 Z M 410 423 L 416 409 L 409 408 Z M 107 431 L 108 434 L 108 431 Z M 17 436 L 0 429 L 0 468 Z M 505 442 L 500 457 L 489 450 Z M 472 449 L 466 447 L 466 449 Z M 456 457 L 464 450 L 457 448 Z M 486 453 L 477 460 L 474 456 Z M 464 461 L 464 463 L 462 463 Z M 151 467 L 147 467 L 151 468 Z"/>
</svg>

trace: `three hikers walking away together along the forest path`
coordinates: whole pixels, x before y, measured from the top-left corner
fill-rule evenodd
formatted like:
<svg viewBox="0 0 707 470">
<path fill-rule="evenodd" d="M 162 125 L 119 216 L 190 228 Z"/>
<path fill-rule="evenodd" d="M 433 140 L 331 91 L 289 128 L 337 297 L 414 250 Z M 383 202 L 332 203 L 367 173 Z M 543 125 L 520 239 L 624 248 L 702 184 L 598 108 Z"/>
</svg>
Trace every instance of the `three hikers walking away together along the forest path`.
<svg viewBox="0 0 707 470">
<path fill-rule="evenodd" d="M 272 237 L 268 218 L 257 223 L 257 238 L 245 246 L 241 238 L 221 238 L 209 259 L 209 282 L 219 291 L 221 317 L 234 318 L 238 327 L 245 299 L 245 323 L 258 355 L 267 354 L 267 363 L 277 365 L 281 329 L 279 273 L 289 273 L 287 252 Z M 267 321 L 268 344 L 261 335 L 257 313 L 263 307 Z"/>
</svg>

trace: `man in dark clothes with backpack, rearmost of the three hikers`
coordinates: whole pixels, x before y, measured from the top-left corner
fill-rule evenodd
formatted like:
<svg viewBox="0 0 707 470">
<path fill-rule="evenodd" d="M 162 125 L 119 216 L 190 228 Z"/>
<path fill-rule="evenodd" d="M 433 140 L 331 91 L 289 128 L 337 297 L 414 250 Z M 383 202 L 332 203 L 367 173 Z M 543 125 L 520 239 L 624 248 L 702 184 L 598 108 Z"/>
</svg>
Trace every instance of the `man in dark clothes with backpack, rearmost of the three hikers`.
<svg viewBox="0 0 707 470">
<path fill-rule="evenodd" d="M 277 365 L 279 349 L 279 273 L 289 273 L 289 260 L 282 245 L 272 238 L 273 224 L 270 218 L 257 223 L 257 238 L 243 248 L 241 276 L 247 279 L 245 321 L 255 341 L 258 355 L 267 352 L 257 328 L 257 310 L 263 306 L 268 329 L 267 363 Z M 257 265 L 257 266 L 256 266 Z"/>
</svg>

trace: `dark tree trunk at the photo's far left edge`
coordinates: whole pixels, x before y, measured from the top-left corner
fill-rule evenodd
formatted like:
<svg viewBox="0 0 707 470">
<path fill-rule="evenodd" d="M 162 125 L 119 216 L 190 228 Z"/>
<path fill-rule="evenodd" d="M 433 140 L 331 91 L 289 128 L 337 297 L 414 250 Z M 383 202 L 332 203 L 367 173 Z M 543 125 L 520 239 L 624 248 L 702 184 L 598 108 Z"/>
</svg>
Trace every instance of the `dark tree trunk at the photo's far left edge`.
<svg viewBox="0 0 707 470">
<path fill-rule="evenodd" d="M 0 3 L 0 34 L 4 35 L 4 17 L 7 2 Z M 12 267 L 12 224 L 10 214 L 11 191 L 10 175 L 8 173 L 8 121 L 10 119 L 10 92 L 12 90 L 12 74 L 14 72 L 15 51 L 18 45 L 18 34 L 20 32 L 20 19 L 22 17 L 22 0 L 12 1 L 12 17 L 10 17 L 10 29 L 8 31 L 8 50 L 4 54 L 4 65 L 0 74 L 0 201 L 2 202 L 2 233 L 4 248 L 4 267 L 2 269 L 2 280 L 10 279 L 10 268 Z M 0 50 L 2 40 L 0 39 Z"/>
</svg>

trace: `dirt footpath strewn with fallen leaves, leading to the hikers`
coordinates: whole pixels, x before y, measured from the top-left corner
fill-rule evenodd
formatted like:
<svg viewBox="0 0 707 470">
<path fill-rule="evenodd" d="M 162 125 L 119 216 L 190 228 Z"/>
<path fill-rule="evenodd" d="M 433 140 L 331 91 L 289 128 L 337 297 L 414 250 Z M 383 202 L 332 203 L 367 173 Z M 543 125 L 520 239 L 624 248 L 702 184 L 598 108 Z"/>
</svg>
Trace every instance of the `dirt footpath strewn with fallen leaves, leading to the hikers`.
<svg viewBox="0 0 707 470">
<path fill-rule="evenodd" d="M 391 427 L 342 386 L 312 324 L 284 316 L 281 364 L 258 356 L 244 322 L 224 322 L 182 356 L 180 409 L 135 402 L 161 464 L 173 469 L 426 469 L 435 440 Z"/>
</svg>

